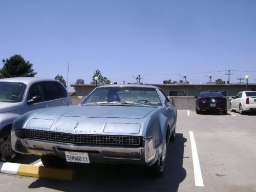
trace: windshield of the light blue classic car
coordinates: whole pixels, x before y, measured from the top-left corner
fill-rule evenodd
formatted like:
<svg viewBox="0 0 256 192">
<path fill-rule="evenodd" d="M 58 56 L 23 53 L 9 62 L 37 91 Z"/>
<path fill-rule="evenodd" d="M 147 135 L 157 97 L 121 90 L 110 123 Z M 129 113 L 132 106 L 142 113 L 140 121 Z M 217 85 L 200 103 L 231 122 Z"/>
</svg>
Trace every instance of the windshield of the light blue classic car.
<svg viewBox="0 0 256 192">
<path fill-rule="evenodd" d="M 157 90 L 141 87 L 100 87 L 81 103 L 162 106 Z"/>
</svg>

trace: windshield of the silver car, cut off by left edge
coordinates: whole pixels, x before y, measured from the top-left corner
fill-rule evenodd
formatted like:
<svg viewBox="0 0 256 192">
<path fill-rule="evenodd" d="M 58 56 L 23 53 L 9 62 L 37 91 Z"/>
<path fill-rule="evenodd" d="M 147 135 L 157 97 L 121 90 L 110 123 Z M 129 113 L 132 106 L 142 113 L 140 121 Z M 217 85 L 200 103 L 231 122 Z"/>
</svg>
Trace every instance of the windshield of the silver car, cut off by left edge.
<svg viewBox="0 0 256 192">
<path fill-rule="evenodd" d="M 0 102 L 20 102 L 23 99 L 25 84 L 19 82 L 0 82 Z"/>
</svg>

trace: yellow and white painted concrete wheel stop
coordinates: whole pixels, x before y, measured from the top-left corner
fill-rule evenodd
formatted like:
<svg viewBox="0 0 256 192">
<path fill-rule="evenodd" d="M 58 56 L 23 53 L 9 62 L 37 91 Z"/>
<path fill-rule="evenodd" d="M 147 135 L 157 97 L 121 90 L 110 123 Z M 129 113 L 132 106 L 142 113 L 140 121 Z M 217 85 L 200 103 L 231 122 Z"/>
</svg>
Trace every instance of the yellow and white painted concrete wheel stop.
<svg viewBox="0 0 256 192">
<path fill-rule="evenodd" d="M 63 181 L 75 180 L 75 170 L 49 168 L 36 165 L 0 162 L 0 173 L 29 176 L 45 179 L 57 179 Z"/>
</svg>

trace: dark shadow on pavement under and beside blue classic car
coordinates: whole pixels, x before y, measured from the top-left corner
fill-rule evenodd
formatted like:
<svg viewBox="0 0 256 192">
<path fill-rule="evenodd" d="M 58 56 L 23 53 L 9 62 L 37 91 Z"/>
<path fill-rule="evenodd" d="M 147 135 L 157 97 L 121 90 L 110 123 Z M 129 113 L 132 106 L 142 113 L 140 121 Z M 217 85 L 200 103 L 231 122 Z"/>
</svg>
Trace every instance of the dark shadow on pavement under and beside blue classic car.
<svg viewBox="0 0 256 192">
<path fill-rule="evenodd" d="M 176 134 L 174 142 L 167 147 L 164 174 L 154 179 L 145 176 L 141 165 L 72 164 L 78 177 L 73 182 L 37 179 L 28 188 L 46 187 L 60 191 L 178 191 L 179 184 L 186 178 L 183 168 L 183 134 Z"/>
</svg>

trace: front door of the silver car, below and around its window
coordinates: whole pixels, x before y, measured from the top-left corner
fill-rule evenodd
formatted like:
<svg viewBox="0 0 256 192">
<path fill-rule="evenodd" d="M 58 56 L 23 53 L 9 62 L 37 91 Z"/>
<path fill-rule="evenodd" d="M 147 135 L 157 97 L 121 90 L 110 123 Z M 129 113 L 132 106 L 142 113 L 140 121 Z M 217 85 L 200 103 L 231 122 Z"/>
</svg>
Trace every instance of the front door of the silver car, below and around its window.
<svg viewBox="0 0 256 192">
<path fill-rule="evenodd" d="M 33 104 L 28 104 L 28 101 L 31 100 L 34 96 L 41 97 L 41 100 L 38 100 Z M 45 101 L 45 89 L 43 82 L 33 83 L 30 87 L 28 87 L 25 103 L 23 105 L 23 113 L 47 107 L 48 103 Z"/>
</svg>

